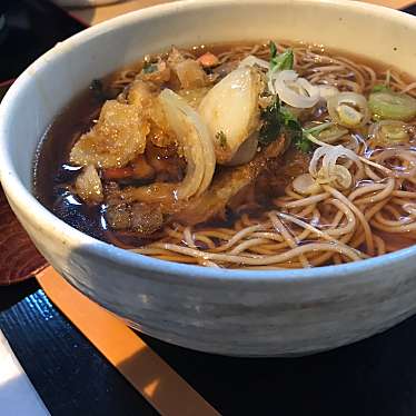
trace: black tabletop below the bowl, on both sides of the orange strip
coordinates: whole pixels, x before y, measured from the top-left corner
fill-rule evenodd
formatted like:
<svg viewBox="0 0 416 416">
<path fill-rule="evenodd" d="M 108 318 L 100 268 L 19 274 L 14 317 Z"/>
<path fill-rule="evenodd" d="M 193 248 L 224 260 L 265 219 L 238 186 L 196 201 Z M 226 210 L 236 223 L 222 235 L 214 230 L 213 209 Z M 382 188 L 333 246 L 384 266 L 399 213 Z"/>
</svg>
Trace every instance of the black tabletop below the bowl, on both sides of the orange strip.
<svg viewBox="0 0 416 416">
<path fill-rule="evenodd" d="M 0 288 L 0 328 L 51 415 L 157 414 L 34 279 Z M 224 415 L 416 415 L 416 317 L 290 359 L 221 357 L 137 336 Z"/>
</svg>

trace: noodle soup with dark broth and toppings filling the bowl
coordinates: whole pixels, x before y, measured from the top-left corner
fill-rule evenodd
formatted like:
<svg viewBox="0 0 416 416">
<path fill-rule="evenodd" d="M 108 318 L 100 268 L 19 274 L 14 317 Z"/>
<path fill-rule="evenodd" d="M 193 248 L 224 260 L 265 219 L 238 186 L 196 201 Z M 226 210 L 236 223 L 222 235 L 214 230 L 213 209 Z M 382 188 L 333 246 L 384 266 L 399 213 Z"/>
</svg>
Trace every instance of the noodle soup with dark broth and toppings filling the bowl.
<svg viewBox="0 0 416 416">
<path fill-rule="evenodd" d="M 34 191 L 93 237 L 165 260 L 299 268 L 416 238 L 416 82 L 321 47 L 145 59 L 48 129 Z"/>
</svg>

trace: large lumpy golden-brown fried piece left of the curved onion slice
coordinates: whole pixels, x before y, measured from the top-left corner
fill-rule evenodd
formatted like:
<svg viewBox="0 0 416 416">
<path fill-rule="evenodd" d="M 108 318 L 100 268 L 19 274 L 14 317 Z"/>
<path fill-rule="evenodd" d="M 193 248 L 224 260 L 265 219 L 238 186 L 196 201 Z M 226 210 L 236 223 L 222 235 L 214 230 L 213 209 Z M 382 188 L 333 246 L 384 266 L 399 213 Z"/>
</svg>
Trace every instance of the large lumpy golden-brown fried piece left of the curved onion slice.
<svg viewBox="0 0 416 416">
<path fill-rule="evenodd" d="M 75 165 L 120 168 L 145 151 L 149 122 L 136 106 L 106 101 L 96 126 L 82 135 L 70 152 Z"/>
</svg>

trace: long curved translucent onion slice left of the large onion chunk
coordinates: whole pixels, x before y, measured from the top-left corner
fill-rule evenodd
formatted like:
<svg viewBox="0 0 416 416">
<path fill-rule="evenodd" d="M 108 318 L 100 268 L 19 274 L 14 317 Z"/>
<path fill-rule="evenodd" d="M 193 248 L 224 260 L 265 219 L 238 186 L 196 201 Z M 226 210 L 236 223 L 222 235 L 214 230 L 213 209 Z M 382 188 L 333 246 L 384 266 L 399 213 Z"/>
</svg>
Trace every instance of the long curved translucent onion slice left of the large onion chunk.
<svg viewBox="0 0 416 416">
<path fill-rule="evenodd" d="M 176 196 L 186 199 L 204 192 L 210 185 L 216 166 L 208 128 L 187 102 L 166 88 L 159 95 L 170 128 L 175 131 L 187 159 L 187 174 Z"/>
</svg>

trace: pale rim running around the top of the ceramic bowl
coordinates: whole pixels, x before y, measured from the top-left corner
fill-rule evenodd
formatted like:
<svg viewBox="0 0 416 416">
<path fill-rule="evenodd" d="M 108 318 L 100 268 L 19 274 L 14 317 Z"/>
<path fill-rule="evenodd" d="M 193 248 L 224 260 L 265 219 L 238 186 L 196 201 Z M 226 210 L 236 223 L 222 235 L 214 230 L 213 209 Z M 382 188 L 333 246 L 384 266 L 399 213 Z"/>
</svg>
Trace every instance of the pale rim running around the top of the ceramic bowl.
<svg viewBox="0 0 416 416">
<path fill-rule="evenodd" d="M 197 8 L 202 9 L 205 7 L 220 7 L 221 4 L 236 4 L 241 3 L 250 4 L 252 0 L 182 0 L 178 2 L 168 2 L 150 8 L 132 11 L 108 21 L 101 22 L 97 26 L 90 27 L 81 32 L 72 36 L 71 38 L 58 43 L 56 47 L 47 51 L 43 56 L 38 58 L 32 65 L 30 65 L 13 82 L 9 91 L 6 93 L 0 105 L 0 148 L 2 143 L 7 141 L 7 123 L 10 119 L 9 109 L 13 107 L 14 98 L 24 89 L 26 85 L 30 82 L 29 73 L 41 70 L 50 60 L 53 60 L 59 53 L 65 53 L 65 50 L 71 46 L 82 43 L 85 40 L 100 33 L 108 32 L 122 27 L 129 22 L 139 23 L 141 20 L 160 16 L 164 13 L 179 12 L 185 8 Z M 297 3 L 318 3 L 319 6 L 328 4 L 348 9 L 356 9 L 361 12 L 370 12 L 376 17 L 388 17 L 388 19 L 400 20 L 400 22 L 407 21 L 416 28 L 415 17 L 393 10 L 389 8 L 364 3 L 360 1 L 350 0 L 297 0 Z M 257 3 L 264 4 L 290 4 L 291 0 L 259 0 Z M 4 121 L 6 120 L 6 121 Z M 224 268 L 210 268 L 202 266 L 186 265 L 166 260 L 155 259 L 149 256 L 138 255 L 128 250 L 118 248 L 110 244 L 100 241 L 93 237 L 88 236 L 79 231 L 78 229 L 69 226 L 63 220 L 59 219 L 46 207 L 43 207 L 38 199 L 32 195 L 31 191 L 27 190 L 23 184 L 18 178 L 16 170 L 12 167 L 12 161 L 9 156 L 0 151 L 0 180 L 7 189 L 7 194 L 12 199 L 13 204 L 18 206 L 22 211 L 27 211 L 30 207 L 31 215 L 36 218 L 41 229 L 47 230 L 55 228 L 61 231 L 61 238 L 67 240 L 70 247 L 77 244 L 81 247 L 82 251 L 89 255 L 100 257 L 105 261 L 122 264 L 122 267 L 133 269 L 137 274 L 140 274 L 140 269 L 155 271 L 160 276 L 171 275 L 180 278 L 189 279 L 192 283 L 206 281 L 212 284 L 217 280 L 229 280 L 235 283 L 260 283 L 260 281 L 281 281 L 281 283 L 294 283 L 301 284 L 305 280 L 320 280 L 320 279 L 339 279 L 341 277 L 351 278 L 351 275 L 363 274 L 366 270 L 374 268 L 383 268 L 385 266 L 392 266 L 394 264 L 400 264 L 403 261 L 416 257 L 416 245 L 405 249 L 400 249 L 390 254 L 373 257 L 366 260 L 354 261 L 343 265 L 320 266 L 309 269 L 276 269 L 276 270 L 252 270 L 252 269 L 224 269 Z M 55 227 L 53 227 L 55 225 Z M 49 231 L 57 232 L 57 231 Z M 156 277 L 156 276 L 155 276 Z M 160 279 L 162 277 L 159 277 Z"/>
</svg>

